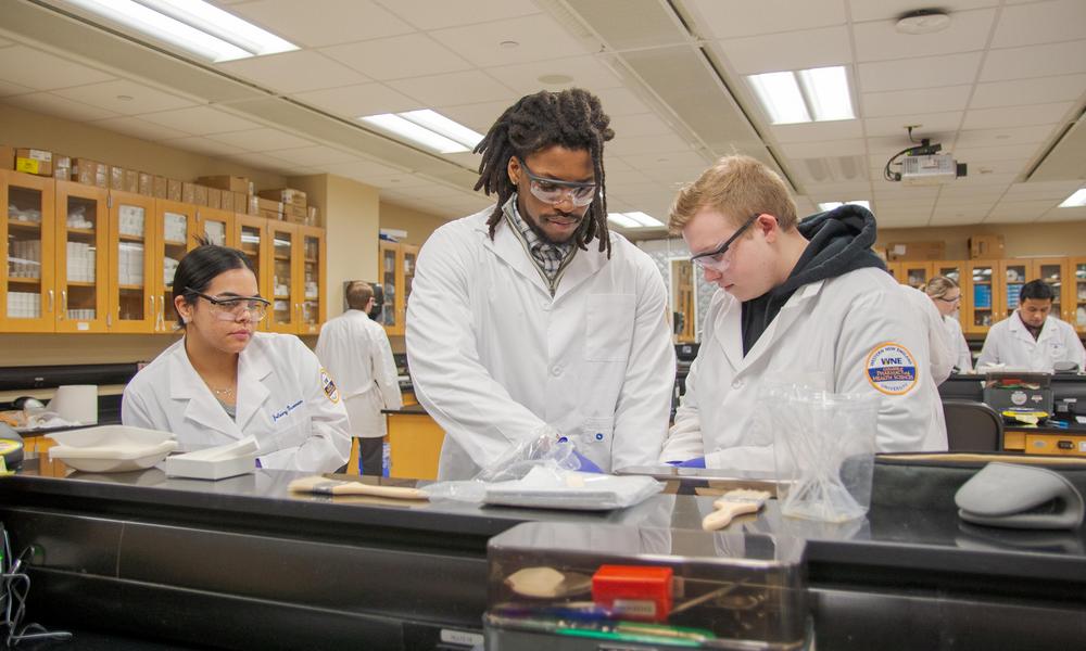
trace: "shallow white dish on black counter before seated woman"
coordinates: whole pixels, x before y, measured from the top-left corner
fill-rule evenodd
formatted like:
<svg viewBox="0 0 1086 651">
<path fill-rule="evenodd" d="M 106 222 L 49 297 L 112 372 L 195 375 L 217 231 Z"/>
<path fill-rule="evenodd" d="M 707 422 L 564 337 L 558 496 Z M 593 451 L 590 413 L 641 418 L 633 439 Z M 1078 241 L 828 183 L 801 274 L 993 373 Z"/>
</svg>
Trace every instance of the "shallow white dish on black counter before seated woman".
<svg viewBox="0 0 1086 651">
<path fill-rule="evenodd" d="M 127 472 L 151 468 L 177 449 L 169 432 L 104 425 L 48 434 L 56 445 L 49 458 L 84 472 Z"/>
</svg>

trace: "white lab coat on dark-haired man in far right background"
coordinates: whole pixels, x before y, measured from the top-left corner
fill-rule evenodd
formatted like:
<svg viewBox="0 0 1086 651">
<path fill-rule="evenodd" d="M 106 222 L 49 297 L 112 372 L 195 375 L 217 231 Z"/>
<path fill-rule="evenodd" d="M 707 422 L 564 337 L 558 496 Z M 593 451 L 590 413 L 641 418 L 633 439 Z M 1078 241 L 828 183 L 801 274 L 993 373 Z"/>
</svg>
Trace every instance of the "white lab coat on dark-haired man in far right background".
<svg viewBox="0 0 1086 651">
<path fill-rule="evenodd" d="M 1015 310 L 988 329 L 976 368 L 1002 363 L 1008 368 L 1051 371 L 1057 361 L 1073 361 L 1079 370 L 1086 369 L 1086 350 L 1075 329 L 1050 316 L 1045 319 L 1040 336 L 1034 340 Z"/>
</svg>

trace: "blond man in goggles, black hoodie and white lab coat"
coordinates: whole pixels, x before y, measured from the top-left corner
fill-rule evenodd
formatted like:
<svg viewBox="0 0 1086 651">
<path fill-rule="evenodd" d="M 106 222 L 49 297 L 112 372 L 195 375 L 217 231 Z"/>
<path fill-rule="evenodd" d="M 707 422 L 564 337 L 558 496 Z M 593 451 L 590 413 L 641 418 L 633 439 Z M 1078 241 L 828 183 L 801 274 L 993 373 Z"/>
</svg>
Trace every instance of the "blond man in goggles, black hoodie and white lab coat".
<svg viewBox="0 0 1086 651">
<path fill-rule="evenodd" d="M 813 378 L 881 396 L 876 451 L 947 449 L 927 329 L 871 251 L 870 212 L 846 204 L 797 224 L 784 181 L 735 155 L 679 193 L 669 227 L 719 289 L 660 461 L 772 472 L 756 400 Z"/>
</svg>

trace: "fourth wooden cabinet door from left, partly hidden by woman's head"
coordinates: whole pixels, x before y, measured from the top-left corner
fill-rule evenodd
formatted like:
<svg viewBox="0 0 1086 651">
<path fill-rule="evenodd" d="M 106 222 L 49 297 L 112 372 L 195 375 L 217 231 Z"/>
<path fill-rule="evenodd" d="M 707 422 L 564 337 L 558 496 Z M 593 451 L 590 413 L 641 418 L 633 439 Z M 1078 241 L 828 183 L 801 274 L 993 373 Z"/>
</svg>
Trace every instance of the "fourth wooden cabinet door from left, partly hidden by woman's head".
<svg viewBox="0 0 1086 651">
<path fill-rule="evenodd" d="M 154 202 L 154 296 L 159 312 L 154 332 L 173 333 L 177 326 L 174 308 L 174 273 L 177 265 L 195 247 L 190 235 L 195 228 L 197 206 L 156 199 Z"/>
</svg>

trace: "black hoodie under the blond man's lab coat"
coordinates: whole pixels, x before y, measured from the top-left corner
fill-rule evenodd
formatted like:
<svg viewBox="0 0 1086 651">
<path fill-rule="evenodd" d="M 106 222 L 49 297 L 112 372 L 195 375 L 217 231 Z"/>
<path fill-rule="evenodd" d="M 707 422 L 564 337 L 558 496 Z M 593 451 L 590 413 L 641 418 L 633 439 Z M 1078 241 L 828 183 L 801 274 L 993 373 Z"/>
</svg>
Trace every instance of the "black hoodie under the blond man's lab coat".
<svg viewBox="0 0 1086 651">
<path fill-rule="evenodd" d="M 754 347 L 792 294 L 803 285 L 836 278 L 854 269 L 886 269 L 871 251 L 875 218 L 863 206 L 845 204 L 807 217 L 796 227 L 809 243 L 783 283 L 743 303 L 743 355 Z"/>
</svg>

